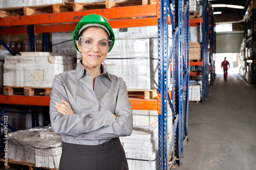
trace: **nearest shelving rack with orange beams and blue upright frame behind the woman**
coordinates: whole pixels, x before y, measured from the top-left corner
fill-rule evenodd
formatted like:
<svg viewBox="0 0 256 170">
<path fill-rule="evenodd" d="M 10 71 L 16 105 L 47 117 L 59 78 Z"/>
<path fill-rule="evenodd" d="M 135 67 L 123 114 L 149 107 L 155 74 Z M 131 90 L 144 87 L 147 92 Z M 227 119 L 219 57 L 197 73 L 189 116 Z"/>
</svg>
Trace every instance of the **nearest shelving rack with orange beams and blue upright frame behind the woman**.
<svg viewBox="0 0 256 170">
<path fill-rule="evenodd" d="M 29 34 L 30 51 L 36 51 L 36 34 L 43 34 L 44 51 L 49 51 L 50 32 L 73 31 L 84 15 L 100 14 L 109 20 L 112 28 L 158 26 L 159 86 L 158 99 L 130 99 L 135 110 L 158 110 L 159 113 L 159 169 L 181 165 L 183 148 L 188 137 L 189 86 L 189 25 L 200 19 L 189 20 L 189 1 L 159 0 L 157 5 L 118 7 L 77 12 L 11 16 L 0 18 L 0 35 Z M 168 15 L 169 14 L 169 15 Z M 50 19 L 49 19 L 50 18 Z M 167 54 L 168 24 L 172 23 L 173 42 Z M 189 24 L 188 24 L 189 23 Z M 18 27 L 17 27 L 18 26 Z M 170 64 L 172 61 L 172 64 Z M 205 61 L 204 61 L 205 62 Z M 202 63 L 194 63 L 202 64 Z M 172 96 L 167 88 L 167 70 L 172 65 Z M 172 101 L 171 101 L 172 100 Z M 1 104 L 49 106 L 49 96 L 0 95 Z M 172 142 L 167 144 L 167 110 L 173 112 Z M 174 149 L 172 150 L 172 147 Z M 170 157 L 172 160 L 170 162 Z"/>
</svg>

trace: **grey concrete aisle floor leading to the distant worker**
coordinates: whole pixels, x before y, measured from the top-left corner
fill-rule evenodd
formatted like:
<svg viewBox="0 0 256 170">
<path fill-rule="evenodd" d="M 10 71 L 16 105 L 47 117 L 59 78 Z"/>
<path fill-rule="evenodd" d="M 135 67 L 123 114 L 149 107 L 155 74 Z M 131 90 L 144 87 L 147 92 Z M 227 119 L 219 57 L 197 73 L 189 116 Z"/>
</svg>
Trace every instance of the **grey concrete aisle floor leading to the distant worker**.
<svg viewBox="0 0 256 170">
<path fill-rule="evenodd" d="M 255 169 L 256 86 L 218 75 L 205 104 L 189 103 L 189 142 L 179 170 Z"/>
</svg>

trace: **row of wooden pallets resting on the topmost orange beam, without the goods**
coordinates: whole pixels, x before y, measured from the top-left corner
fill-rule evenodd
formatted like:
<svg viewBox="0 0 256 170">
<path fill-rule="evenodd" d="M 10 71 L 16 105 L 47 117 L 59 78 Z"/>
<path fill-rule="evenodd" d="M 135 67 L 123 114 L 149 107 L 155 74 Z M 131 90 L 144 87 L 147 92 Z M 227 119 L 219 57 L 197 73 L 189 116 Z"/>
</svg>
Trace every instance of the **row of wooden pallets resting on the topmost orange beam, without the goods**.
<svg viewBox="0 0 256 170">
<path fill-rule="evenodd" d="M 71 12 L 71 11 L 84 11 L 92 9 L 105 9 L 125 6 L 136 6 L 136 5 L 147 5 L 156 4 L 157 0 L 116 0 L 111 2 L 106 0 L 102 3 L 61 3 L 53 5 L 39 5 L 30 7 L 14 7 L 14 8 L 2 8 L 0 9 L 0 17 L 10 16 L 29 16 L 35 14 L 46 14 L 46 13 L 60 13 L 60 12 Z"/>
</svg>

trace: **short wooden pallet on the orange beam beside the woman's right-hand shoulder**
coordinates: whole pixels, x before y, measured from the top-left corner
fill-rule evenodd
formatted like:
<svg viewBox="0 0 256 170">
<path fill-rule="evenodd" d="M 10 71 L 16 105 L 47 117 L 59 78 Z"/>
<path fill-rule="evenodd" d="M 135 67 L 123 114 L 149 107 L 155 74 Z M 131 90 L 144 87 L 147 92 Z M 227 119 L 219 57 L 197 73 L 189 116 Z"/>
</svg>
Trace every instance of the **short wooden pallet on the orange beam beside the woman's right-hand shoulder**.
<svg viewBox="0 0 256 170">
<path fill-rule="evenodd" d="M 157 99 L 158 92 L 156 89 L 146 90 L 146 89 L 127 89 L 129 98 L 142 98 Z"/>
</svg>

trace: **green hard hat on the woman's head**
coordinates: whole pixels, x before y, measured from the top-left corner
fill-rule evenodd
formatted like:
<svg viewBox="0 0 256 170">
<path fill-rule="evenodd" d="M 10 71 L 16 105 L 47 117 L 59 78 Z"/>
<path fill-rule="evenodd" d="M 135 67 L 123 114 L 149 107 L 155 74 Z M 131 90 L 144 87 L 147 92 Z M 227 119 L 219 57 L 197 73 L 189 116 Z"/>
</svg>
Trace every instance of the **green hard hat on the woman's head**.
<svg viewBox="0 0 256 170">
<path fill-rule="evenodd" d="M 97 23 L 97 24 L 99 24 L 99 25 L 104 26 L 104 27 L 108 30 L 107 32 L 109 32 L 109 34 L 110 34 L 110 40 L 112 40 L 111 48 L 110 48 L 110 50 L 108 51 L 108 53 L 109 53 L 109 52 L 112 50 L 113 45 L 114 45 L 114 43 L 115 43 L 115 34 L 114 34 L 114 31 L 112 30 L 112 28 L 111 28 L 111 26 L 110 26 L 108 20 L 106 20 L 106 18 L 104 18 L 103 16 L 101 16 L 101 15 L 96 15 L 96 14 L 92 14 L 92 15 L 90 14 L 90 15 L 84 16 L 84 17 L 80 20 L 80 22 L 77 24 L 76 29 L 75 29 L 75 31 L 74 31 L 74 33 L 73 33 L 73 42 L 74 42 L 74 45 L 75 45 L 75 47 L 76 47 L 76 50 L 79 51 L 79 50 L 78 50 L 78 47 L 77 47 L 77 45 L 76 45 L 76 40 L 79 39 L 79 30 L 80 30 L 80 28 L 81 28 L 82 26 L 87 25 L 87 24 L 89 24 L 89 23 L 90 23 L 90 24 L 92 24 L 92 23 Z"/>
</svg>

